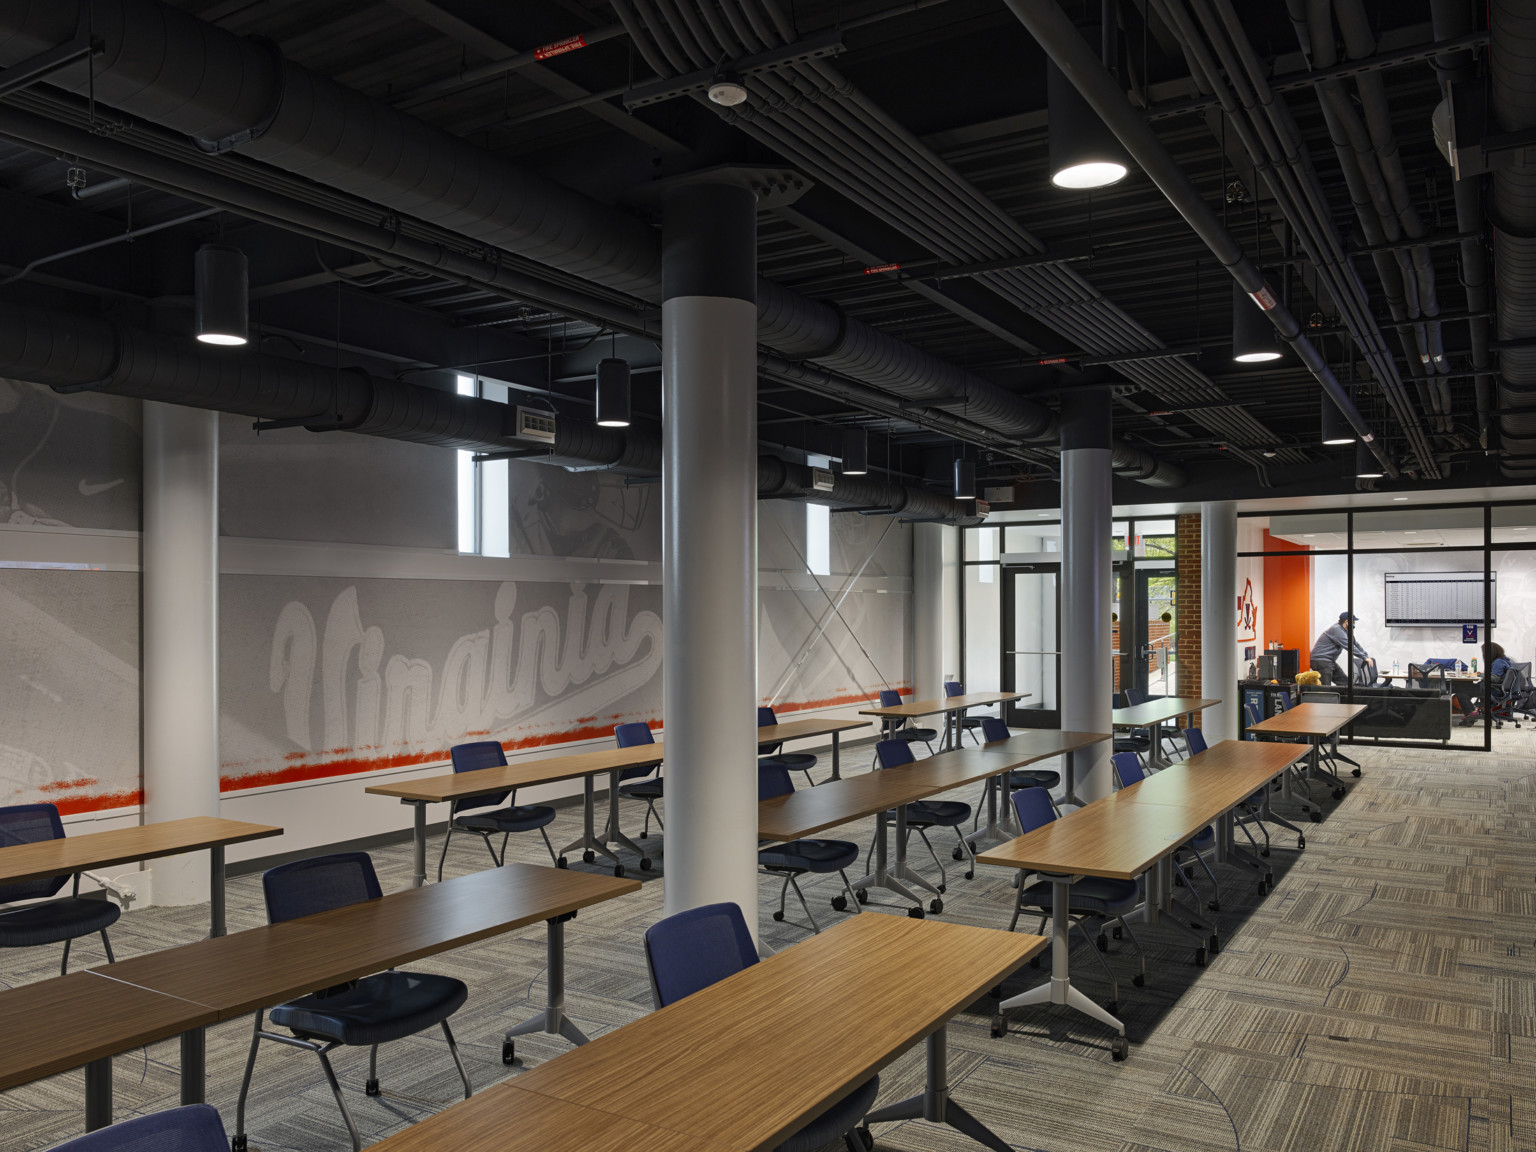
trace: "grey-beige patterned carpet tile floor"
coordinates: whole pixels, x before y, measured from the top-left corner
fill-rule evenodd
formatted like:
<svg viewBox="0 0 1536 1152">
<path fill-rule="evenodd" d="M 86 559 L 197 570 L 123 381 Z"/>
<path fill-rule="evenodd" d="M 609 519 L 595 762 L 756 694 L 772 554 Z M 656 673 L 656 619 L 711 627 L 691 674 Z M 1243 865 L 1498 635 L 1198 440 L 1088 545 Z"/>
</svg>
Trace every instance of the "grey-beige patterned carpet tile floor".
<svg viewBox="0 0 1536 1152">
<path fill-rule="evenodd" d="M 1129 1061 L 1111 1061 L 1107 1029 L 1055 1008 L 1014 1012 L 1009 1035 L 992 1040 L 991 1001 L 983 1000 L 951 1025 L 955 1097 L 1014 1147 L 1049 1152 L 1536 1149 L 1533 745 L 1522 730 L 1499 739 L 1491 754 L 1356 753 L 1364 779 L 1344 800 L 1324 800 L 1327 819 L 1306 825 L 1306 851 L 1295 851 L 1289 833 L 1276 836 L 1269 897 L 1256 897 L 1249 872 L 1218 869 L 1226 946 L 1207 968 L 1195 968 L 1189 946 L 1169 929 L 1141 928 L 1149 975 L 1135 989 L 1129 945 L 1111 945 Z M 636 828 L 641 811 L 627 808 Z M 1304 822 L 1295 805 L 1276 811 Z M 553 839 L 574 836 L 578 820 L 579 809 L 562 809 Z M 840 834 L 868 842 L 871 828 Z M 949 842 L 937 843 L 949 866 Z M 433 859 L 436 849 L 433 843 Z M 515 839 L 515 857 L 538 862 L 542 851 L 536 837 Z M 386 891 L 407 883 L 407 846 L 373 857 Z M 450 871 L 482 863 L 475 842 L 455 842 Z M 836 917 L 825 903 L 833 886 L 822 880 L 813 892 L 825 925 Z M 1011 897 L 1003 872 L 982 869 L 968 882 L 952 869 L 943 919 L 1003 928 Z M 803 937 L 768 920 L 777 883 L 766 877 L 762 900 L 770 945 Z M 639 938 L 660 902 L 660 886 L 648 883 L 568 926 L 568 1008 L 588 1034 L 648 1009 Z M 255 876 L 230 883 L 229 920 L 230 931 L 261 923 Z M 114 946 L 120 957 L 134 955 L 195 940 L 204 925 L 204 908 L 134 911 L 114 929 Z M 95 963 L 98 946 L 81 942 L 77 957 Z M 45 978 L 57 962 L 55 948 L 0 955 L 0 982 Z M 413 968 L 468 983 L 455 1031 L 476 1087 L 516 1075 L 499 1061 L 501 1029 L 542 1003 L 542 929 Z M 1041 975 L 1023 969 L 1009 994 Z M 1089 995 L 1109 998 L 1101 969 L 1081 946 L 1074 975 Z M 230 1130 L 249 1035 L 244 1021 L 209 1031 L 209 1101 Z M 527 1063 L 564 1048 L 551 1037 L 519 1040 Z M 177 1057 L 169 1041 L 117 1058 L 120 1118 L 177 1103 Z M 461 1095 L 447 1049 L 432 1034 L 381 1052 L 384 1094 L 376 1098 L 362 1094 L 366 1051 L 341 1049 L 335 1061 L 366 1141 Z M 78 1134 L 81 1084 L 77 1071 L 0 1094 L 0 1147 L 48 1147 Z M 920 1048 L 882 1072 L 882 1103 L 920 1087 Z M 318 1063 L 278 1046 L 263 1046 L 247 1129 L 250 1146 L 263 1152 L 347 1147 Z M 892 1150 L 975 1147 L 923 1121 L 880 1126 L 876 1137 Z"/>
</svg>

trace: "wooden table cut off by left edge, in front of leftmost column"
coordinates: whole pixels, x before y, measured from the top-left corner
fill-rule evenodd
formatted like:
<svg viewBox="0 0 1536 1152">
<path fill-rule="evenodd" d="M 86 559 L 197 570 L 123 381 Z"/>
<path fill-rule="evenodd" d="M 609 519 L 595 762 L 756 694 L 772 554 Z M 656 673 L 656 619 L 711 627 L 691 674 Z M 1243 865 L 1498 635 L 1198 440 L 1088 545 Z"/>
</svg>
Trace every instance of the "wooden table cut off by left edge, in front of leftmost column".
<svg viewBox="0 0 1536 1152">
<path fill-rule="evenodd" d="M 157 860 L 207 849 L 209 903 L 212 925 L 209 935 L 224 934 L 224 848 L 232 843 L 283 836 L 281 828 L 217 816 L 192 816 L 186 820 L 161 820 L 134 828 L 112 828 L 104 833 L 66 836 L 61 840 L 0 848 L 0 885 L 38 880 L 46 876 L 71 876 L 89 868 L 111 868 L 132 860 Z"/>
</svg>

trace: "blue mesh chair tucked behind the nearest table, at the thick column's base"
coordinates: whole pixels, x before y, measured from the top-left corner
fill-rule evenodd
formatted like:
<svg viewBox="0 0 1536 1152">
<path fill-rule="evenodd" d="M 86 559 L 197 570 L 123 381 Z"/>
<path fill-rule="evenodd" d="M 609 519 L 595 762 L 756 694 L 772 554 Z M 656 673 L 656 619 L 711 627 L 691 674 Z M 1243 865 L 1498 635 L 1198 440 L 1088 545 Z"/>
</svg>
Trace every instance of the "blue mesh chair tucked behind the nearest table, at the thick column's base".
<svg viewBox="0 0 1536 1152">
<path fill-rule="evenodd" d="M 645 965 L 656 1008 L 667 1008 L 756 963 L 757 948 L 746 931 L 746 919 L 733 903 L 690 908 L 645 929 Z M 816 1152 L 837 1138 L 849 1152 L 868 1152 L 874 1140 L 862 1124 L 879 1091 L 880 1077 L 869 1077 L 774 1152 Z"/>
</svg>

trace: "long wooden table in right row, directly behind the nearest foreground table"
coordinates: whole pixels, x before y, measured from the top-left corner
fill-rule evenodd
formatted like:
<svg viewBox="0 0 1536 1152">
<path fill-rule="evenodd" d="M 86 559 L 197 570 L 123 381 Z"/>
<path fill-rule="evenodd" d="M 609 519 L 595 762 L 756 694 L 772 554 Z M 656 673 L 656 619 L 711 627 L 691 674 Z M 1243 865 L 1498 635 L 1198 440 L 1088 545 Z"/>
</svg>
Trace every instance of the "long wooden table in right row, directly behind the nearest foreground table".
<svg viewBox="0 0 1536 1152">
<path fill-rule="evenodd" d="M 1217 754 L 1200 763 L 1192 757 L 1174 765 L 977 857 L 985 865 L 1020 871 L 1020 886 L 1028 883 L 1029 872 L 1038 872 L 1052 886 L 1051 978 L 998 1005 L 994 1032 L 1006 1029 L 1005 1014 L 1011 1008 L 1068 1005 L 1120 1034 L 1112 1049 L 1117 1060 L 1129 1054 L 1126 1026 L 1072 986 L 1068 911 L 1072 882 L 1084 876 L 1112 880 L 1146 876 L 1141 919 L 1155 925 L 1161 914 L 1170 914 L 1169 925 L 1200 940 L 1197 963 L 1204 962 L 1206 949 L 1220 951 L 1213 926 L 1174 891 L 1174 851 L 1210 823 L 1220 823 L 1218 843 L 1230 851 L 1232 809 L 1253 791 L 1267 791 L 1269 782 L 1301 756 L 1301 748 L 1224 740 L 1210 751 Z M 1170 779 L 1163 783 L 1164 777 Z"/>
</svg>

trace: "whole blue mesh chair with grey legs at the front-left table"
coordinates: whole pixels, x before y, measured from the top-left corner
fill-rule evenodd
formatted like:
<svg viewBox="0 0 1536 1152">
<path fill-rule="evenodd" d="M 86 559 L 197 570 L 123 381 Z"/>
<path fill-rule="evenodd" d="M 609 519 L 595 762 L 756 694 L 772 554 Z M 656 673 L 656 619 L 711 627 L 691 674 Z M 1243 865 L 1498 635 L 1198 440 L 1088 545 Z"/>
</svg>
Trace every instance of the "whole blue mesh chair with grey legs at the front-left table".
<svg viewBox="0 0 1536 1152">
<path fill-rule="evenodd" d="M 315 856 L 272 868 L 261 874 L 261 892 L 267 902 L 267 923 L 273 925 L 362 900 L 378 900 L 382 895 L 367 852 Z M 287 1028 L 293 1035 L 264 1031 L 263 1009 L 257 1009 L 250 1055 L 246 1057 L 246 1075 L 240 1081 L 240 1101 L 235 1106 L 232 1152 L 246 1152 L 246 1095 L 250 1092 L 250 1074 L 257 1068 L 257 1048 L 263 1040 L 303 1048 L 319 1057 L 319 1066 L 326 1071 L 326 1081 L 336 1097 L 341 1118 L 347 1121 L 353 1152 L 362 1147 L 362 1141 L 330 1066 L 333 1048 L 369 1046 L 369 1080 L 364 1091 L 376 1097 L 379 1044 L 439 1025 L 449 1041 L 449 1052 L 453 1054 L 453 1063 L 459 1069 L 459 1080 L 464 1081 L 464 1098 L 468 1100 L 470 1074 L 464 1071 L 459 1046 L 453 1043 L 453 1031 L 449 1028 L 449 1017 L 459 1011 L 468 994 L 462 980 L 425 972 L 399 972 L 392 968 L 273 1008 L 272 1023 Z"/>
</svg>

